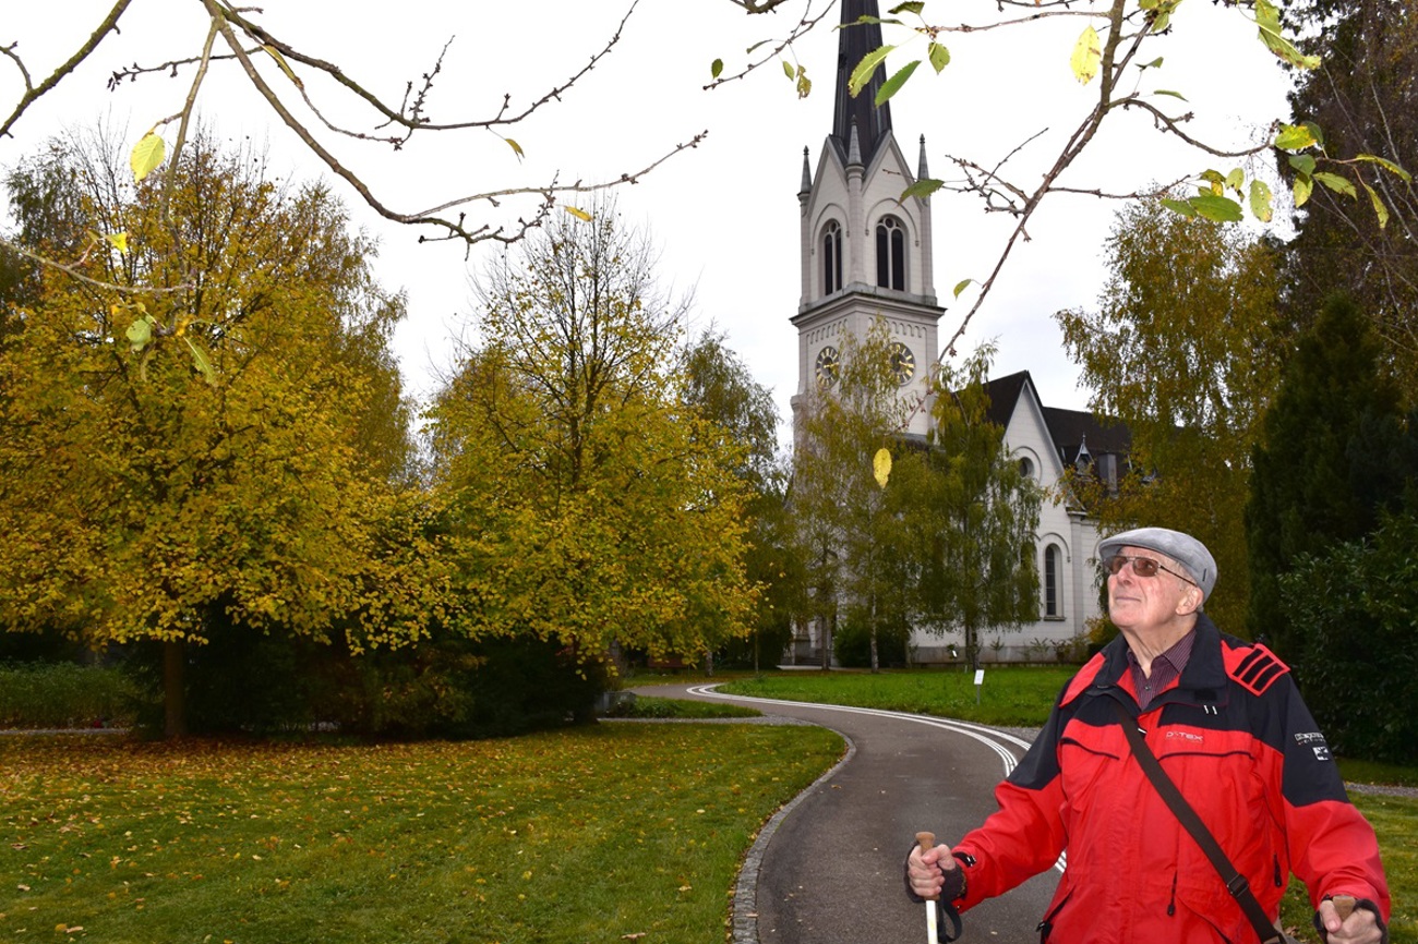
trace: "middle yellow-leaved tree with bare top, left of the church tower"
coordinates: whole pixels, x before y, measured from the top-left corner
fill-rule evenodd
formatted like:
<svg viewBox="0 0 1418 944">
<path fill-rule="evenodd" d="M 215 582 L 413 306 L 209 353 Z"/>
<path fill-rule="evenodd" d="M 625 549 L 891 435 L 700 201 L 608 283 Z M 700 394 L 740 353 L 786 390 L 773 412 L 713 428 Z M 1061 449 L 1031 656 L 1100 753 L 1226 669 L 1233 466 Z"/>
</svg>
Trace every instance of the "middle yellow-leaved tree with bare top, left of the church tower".
<svg viewBox="0 0 1418 944">
<path fill-rule="evenodd" d="M 747 632 L 742 446 L 683 398 L 682 305 L 614 207 L 479 281 L 482 346 L 431 411 L 471 634 L 695 658 Z"/>
</svg>

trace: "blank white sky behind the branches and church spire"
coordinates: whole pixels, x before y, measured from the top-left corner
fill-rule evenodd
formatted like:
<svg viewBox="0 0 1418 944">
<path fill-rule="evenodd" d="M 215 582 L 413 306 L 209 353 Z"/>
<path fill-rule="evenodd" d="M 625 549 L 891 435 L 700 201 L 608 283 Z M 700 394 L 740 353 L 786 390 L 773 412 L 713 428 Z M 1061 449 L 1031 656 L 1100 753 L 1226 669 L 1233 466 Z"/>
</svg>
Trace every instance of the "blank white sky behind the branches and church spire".
<svg viewBox="0 0 1418 944">
<path fill-rule="evenodd" d="M 798 0 L 800 3 L 801 0 Z M 18 41 L 31 77 L 47 77 L 92 33 L 111 0 L 62 0 L 34 4 L 0 0 L 0 45 Z M 648 228 L 662 247 L 661 282 L 693 289 L 696 327 L 715 325 L 749 364 L 756 380 L 774 393 L 784 421 L 795 391 L 797 333 L 788 319 L 798 305 L 798 203 L 803 147 L 817 166 L 831 130 L 838 20 L 827 21 L 795 50 L 814 79 L 800 101 L 781 67 L 771 64 L 746 81 L 700 91 L 709 64 L 722 57 L 732 74 L 753 43 L 786 33 L 788 13 L 747 17 L 727 0 L 640 0 L 621 44 L 593 72 L 525 125 L 503 129 L 526 153 L 486 132 L 428 135 L 393 154 L 387 146 L 354 145 L 330 135 L 323 140 L 352 167 L 376 181 L 396 210 L 423 210 L 450 196 L 510 186 L 537 186 L 553 173 L 560 180 L 601 181 L 638 172 L 675 143 L 709 130 L 696 150 L 674 157 L 644 183 L 620 189 L 620 210 Z M 824 0 L 815 0 L 821 7 Z M 882 3 L 891 7 L 891 0 Z M 434 120 L 491 116 L 512 95 L 519 111 L 577 71 L 614 33 L 627 3 L 614 0 L 267 0 L 255 18 L 272 34 L 319 58 L 339 62 L 362 84 L 398 102 L 406 81 L 432 67 L 454 37 L 434 85 L 428 113 Z M 57 16 L 55 10 L 62 14 Z M 978 21 L 988 0 L 932 0 L 926 13 L 949 9 L 936 21 Z M 201 48 L 206 17 L 199 0 L 135 0 L 121 37 L 105 41 L 96 57 L 71 75 L 17 125 L 14 139 L 0 140 L 0 167 L 13 166 L 65 125 L 92 126 L 111 115 L 130 139 L 176 112 L 190 74 L 179 79 L 149 75 L 111 94 L 105 81 L 123 64 L 157 64 Z M 993 164 L 1025 137 L 1049 129 L 1020 159 L 1021 184 L 1034 186 L 1051 163 L 1061 136 L 1082 119 L 1095 85 L 1081 86 L 1069 72 L 1069 54 L 1085 21 L 1064 17 L 1025 28 L 943 37 L 953 61 L 940 77 L 922 67 L 892 101 L 896 139 L 915 162 L 926 136 L 934 176 L 950 176 L 946 153 Z M 886 41 L 903 38 L 888 31 Z M 1168 111 L 1198 116 L 1191 133 L 1244 145 L 1255 128 L 1283 116 L 1286 79 L 1278 61 L 1255 40 L 1255 27 L 1236 10 L 1193 0 L 1174 17 L 1174 34 L 1149 40 L 1143 61 L 1164 57 L 1149 69 L 1143 88 L 1171 89 L 1187 101 L 1159 98 Z M 220 43 L 218 43 L 218 48 Z M 759 51 L 761 55 L 763 51 Z M 899 68 L 925 50 L 900 50 L 888 61 Z M 272 163 L 295 177 L 332 177 L 296 147 L 294 136 L 237 77 L 235 64 L 213 69 L 200 109 L 227 137 L 269 142 Z M 267 79 L 289 91 L 275 68 Z M 18 71 L 0 60 L 0 111 L 9 113 L 21 92 Z M 289 96 L 299 105 L 295 96 Z M 328 96 L 325 101 L 333 101 Z M 298 113 L 303 108 L 296 108 Z M 333 109 L 340 111 L 340 109 Z M 342 112 L 347 120 L 347 109 Z M 1231 164 L 1167 145 L 1140 113 L 1110 119 L 1113 128 L 1093 143 L 1092 154 L 1062 183 L 1126 191 L 1149 180 L 1170 180 L 1208 166 Z M 369 129 L 364 119 L 362 129 Z M 169 142 L 172 130 L 167 132 Z M 471 310 L 464 249 L 454 244 L 417 245 L 418 231 L 386 224 L 367 211 L 343 183 L 336 186 L 354 217 L 381 238 L 380 276 L 408 295 L 408 318 L 396 337 L 410 393 L 430 391 L 448 366 L 450 339 L 465 332 Z M 574 198 L 570 198 L 574 200 Z M 569 201 L 570 201 L 569 200 Z M 579 203 L 587 203 L 580 200 Z M 942 340 L 973 300 L 957 302 L 951 286 L 983 281 L 1003 248 L 1010 221 L 986 214 L 970 197 L 937 194 L 936 289 L 946 305 Z M 1103 279 L 1100 254 L 1113 201 L 1058 194 L 1035 215 L 1032 240 L 1015 248 L 1001 281 L 966 337 L 968 350 L 995 339 L 994 373 L 1029 370 L 1046 405 L 1085 408 L 1088 391 L 1061 350 L 1052 313 L 1095 306 Z M 431 232 L 431 231 L 430 231 Z M 475 248 L 471 264 L 485 252 Z"/>
</svg>

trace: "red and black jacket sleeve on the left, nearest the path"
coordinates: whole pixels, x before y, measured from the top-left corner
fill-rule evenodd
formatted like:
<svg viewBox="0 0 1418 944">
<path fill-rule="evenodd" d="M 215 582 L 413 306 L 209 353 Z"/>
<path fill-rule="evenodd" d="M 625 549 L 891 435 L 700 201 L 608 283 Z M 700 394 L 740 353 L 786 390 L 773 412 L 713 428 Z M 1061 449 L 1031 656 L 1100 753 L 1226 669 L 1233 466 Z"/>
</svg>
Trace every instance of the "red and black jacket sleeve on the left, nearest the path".
<svg viewBox="0 0 1418 944">
<path fill-rule="evenodd" d="M 964 856 L 961 911 L 1045 872 L 1064 852 L 1068 838 L 1056 750 L 1064 721 L 1055 704 L 1024 760 L 995 788 L 998 811 L 953 846 L 957 856 Z"/>
</svg>

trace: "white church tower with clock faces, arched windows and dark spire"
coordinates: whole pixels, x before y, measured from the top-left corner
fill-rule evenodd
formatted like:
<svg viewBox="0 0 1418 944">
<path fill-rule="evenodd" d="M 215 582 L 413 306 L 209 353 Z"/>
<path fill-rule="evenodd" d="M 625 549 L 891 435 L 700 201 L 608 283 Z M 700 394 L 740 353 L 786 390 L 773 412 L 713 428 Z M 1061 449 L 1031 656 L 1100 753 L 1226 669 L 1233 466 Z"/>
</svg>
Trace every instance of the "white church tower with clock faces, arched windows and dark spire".
<svg viewBox="0 0 1418 944">
<path fill-rule="evenodd" d="M 926 177 L 926 139 L 915 172 L 906 163 L 891 123 L 891 102 L 873 103 L 886 81 L 885 64 L 856 98 L 848 94 L 852 68 L 882 45 L 876 0 L 842 0 L 837 51 L 837 99 L 832 133 L 822 145 L 817 173 L 803 149 L 801 210 L 803 296 L 791 319 L 798 329 L 798 388 L 793 424 L 820 384 L 835 381 L 842 339 L 865 339 L 876 319 L 892 336 L 892 367 L 902 395 L 926 394 L 926 373 L 939 353 L 939 322 L 932 271 L 930 201 L 900 200 Z M 906 429 L 925 435 L 927 408 L 917 410 Z"/>
</svg>

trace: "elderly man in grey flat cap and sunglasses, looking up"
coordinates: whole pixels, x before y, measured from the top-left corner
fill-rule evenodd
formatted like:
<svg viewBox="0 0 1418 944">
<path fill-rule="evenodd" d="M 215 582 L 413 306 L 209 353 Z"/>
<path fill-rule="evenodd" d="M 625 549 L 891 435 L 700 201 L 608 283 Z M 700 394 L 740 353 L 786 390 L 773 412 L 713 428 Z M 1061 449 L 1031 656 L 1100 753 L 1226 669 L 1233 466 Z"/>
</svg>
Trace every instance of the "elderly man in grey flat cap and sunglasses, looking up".
<svg viewBox="0 0 1418 944">
<path fill-rule="evenodd" d="M 1099 558 L 1122 635 L 1064 687 L 997 788 L 998 812 L 954 848 L 912 849 L 912 897 L 966 911 L 1066 849 L 1041 941 L 1273 940 L 1259 928 L 1275 921 L 1292 872 L 1330 944 L 1387 941 L 1374 831 L 1285 663 L 1201 611 L 1217 583 L 1211 553 L 1190 534 L 1143 527 L 1102 541 Z M 1163 799 L 1139 760 L 1147 748 L 1244 882 L 1221 877 L 1224 865 Z"/>
</svg>

